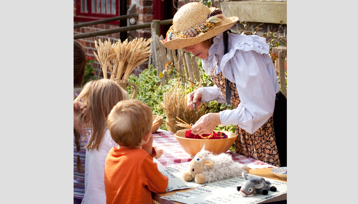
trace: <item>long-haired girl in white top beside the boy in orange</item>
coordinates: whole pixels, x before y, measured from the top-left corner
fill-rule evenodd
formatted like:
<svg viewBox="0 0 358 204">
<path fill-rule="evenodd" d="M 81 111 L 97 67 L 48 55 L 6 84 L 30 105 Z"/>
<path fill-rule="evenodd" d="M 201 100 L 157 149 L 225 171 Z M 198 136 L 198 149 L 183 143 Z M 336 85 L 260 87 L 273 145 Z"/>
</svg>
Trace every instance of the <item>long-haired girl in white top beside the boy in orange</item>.
<svg viewBox="0 0 358 204">
<path fill-rule="evenodd" d="M 105 204 L 104 163 L 112 147 L 118 144 L 107 128 L 107 116 L 112 108 L 128 95 L 116 82 L 100 79 L 88 82 L 74 100 L 74 126 L 90 128 L 91 137 L 86 146 L 86 170 L 82 204 Z M 78 103 L 83 104 L 77 110 Z M 76 117 L 75 117 L 76 116 Z"/>
</svg>

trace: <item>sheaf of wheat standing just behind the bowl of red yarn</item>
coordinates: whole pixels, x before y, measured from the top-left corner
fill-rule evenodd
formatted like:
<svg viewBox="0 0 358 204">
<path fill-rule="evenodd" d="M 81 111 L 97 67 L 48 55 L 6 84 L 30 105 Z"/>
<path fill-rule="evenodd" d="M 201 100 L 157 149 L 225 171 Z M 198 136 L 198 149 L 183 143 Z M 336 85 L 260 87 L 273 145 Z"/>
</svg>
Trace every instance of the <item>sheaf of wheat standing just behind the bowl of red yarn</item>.
<svg viewBox="0 0 358 204">
<path fill-rule="evenodd" d="M 177 133 L 181 129 L 187 128 L 179 127 L 178 122 L 180 121 L 177 117 L 186 121 L 188 124 L 194 124 L 199 118 L 204 115 L 204 106 L 198 107 L 198 114 L 193 109 L 187 107 L 186 94 L 178 80 L 178 84 L 168 91 L 163 96 L 163 103 L 160 103 L 160 107 L 164 110 L 167 117 L 165 125 L 169 132 Z"/>
</svg>

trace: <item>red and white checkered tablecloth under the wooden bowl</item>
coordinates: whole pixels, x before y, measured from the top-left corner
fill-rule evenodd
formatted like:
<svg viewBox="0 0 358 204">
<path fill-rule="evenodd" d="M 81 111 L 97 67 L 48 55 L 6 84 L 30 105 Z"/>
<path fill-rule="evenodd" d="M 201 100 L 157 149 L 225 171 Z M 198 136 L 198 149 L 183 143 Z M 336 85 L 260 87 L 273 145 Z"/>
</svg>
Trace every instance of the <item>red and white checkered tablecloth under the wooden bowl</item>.
<svg viewBox="0 0 358 204">
<path fill-rule="evenodd" d="M 163 155 L 157 160 L 164 166 L 180 164 L 193 159 L 180 147 L 174 133 L 159 129 L 157 132 L 153 133 L 153 137 L 153 147 L 163 149 Z M 274 167 L 265 162 L 248 158 L 232 151 L 228 151 L 226 154 L 230 154 L 232 160 L 235 162 L 246 164 L 251 169 Z"/>
</svg>

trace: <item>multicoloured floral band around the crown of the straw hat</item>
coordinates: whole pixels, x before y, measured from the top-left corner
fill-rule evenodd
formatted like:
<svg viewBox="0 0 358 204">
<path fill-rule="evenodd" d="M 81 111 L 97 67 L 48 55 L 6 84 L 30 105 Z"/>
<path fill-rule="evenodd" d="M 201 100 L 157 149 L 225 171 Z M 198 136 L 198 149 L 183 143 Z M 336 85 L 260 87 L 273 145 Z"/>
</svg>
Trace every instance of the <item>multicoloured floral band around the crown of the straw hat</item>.
<svg viewBox="0 0 358 204">
<path fill-rule="evenodd" d="M 207 16 L 207 20 L 196 25 L 194 28 L 185 31 L 174 30 L 174 25 L 172 25 L 168 32 L 164 42 L 181 39 L 181 38 L 193 38 L 204 35 L 207 31 L 214 29 L 216 23 L 220 23 L 220 17 L 223 16 L 223 12 L 215 7 L 210 8 L 211 12 Z"/>
</svg>

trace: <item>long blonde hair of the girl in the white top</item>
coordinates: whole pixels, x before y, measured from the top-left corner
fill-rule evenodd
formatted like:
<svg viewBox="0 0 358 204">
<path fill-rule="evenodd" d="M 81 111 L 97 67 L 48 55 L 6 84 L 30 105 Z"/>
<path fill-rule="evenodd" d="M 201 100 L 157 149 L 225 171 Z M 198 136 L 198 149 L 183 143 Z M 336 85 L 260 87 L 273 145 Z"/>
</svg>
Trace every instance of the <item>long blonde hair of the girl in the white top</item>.
<svg viewBox="0 0 358 204">
<path fill-rule="evenodd" d="M 127 92 L 109 79 L 90 81 L 83 87 L 75 101 L 83 103 L 84 106 L 75 120 L 82 128 L 91 129 L 86 149 L 98 150 L 107 128 L 108 114 L 122 100 L 128 100 Z M 84 112 L 84 109 L 87 111 Z"/>
</svg>

